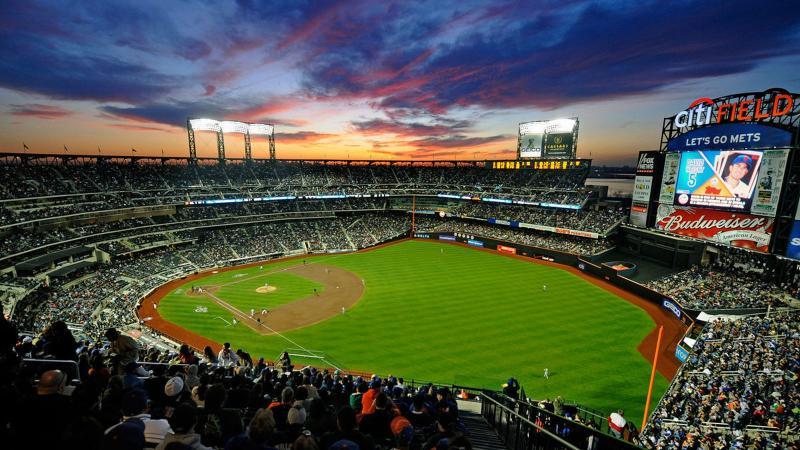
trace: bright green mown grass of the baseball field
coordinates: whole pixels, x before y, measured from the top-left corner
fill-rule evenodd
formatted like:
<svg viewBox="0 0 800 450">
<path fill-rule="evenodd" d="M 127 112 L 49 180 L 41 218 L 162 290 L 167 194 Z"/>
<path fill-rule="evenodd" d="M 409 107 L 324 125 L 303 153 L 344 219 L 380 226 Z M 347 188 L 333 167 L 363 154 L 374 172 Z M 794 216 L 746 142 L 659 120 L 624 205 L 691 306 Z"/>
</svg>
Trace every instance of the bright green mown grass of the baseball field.
<svg viewBox="0 0 800 450">
<path fill-rule="evenodd" d="M 362 299 L 346 314 L 286 333 L 305 348 L 324 351 L 341 367 L 499 389 L 518 378 L 534 398 L 562 395 L 603 411 L 624 408 L 641 418 L 650 376 L 636 350 L 654 323 L 641 309 L 565 270 L 467 247 L 407 241 L 373 251 L 320 256 L 316 263 L 338 266 L 364 279 Z M 261 271 L 301 261 L 284 261 Z M 196 285 L 223 284 L 237 274 L 211 275 Z M 281 302 L 309 295 L 309 280 L 282 274 L 266 278 Z M 270 277 L 276 277 L 273 281 Z M 227 285 L 217 296 L 242 309 L 260 304 L 255 288 L 263 281 Z M 547 285 L 547 290 L 542 289 Z M 253 356 L 274 359 L 294 347 L 278 336 L 229 327 L 216 318 L 230 314 L 202 298 L 176 289 L 159 305 L 169 321 Z M 270 297 L 272 294 L 266 296 Z M 208 313 L 195 313 L 205 306 Z M 550 370 L 550 379 L 543 377 Z M 667 380 L 656 378 L 654 401 Z"/>
</svg>

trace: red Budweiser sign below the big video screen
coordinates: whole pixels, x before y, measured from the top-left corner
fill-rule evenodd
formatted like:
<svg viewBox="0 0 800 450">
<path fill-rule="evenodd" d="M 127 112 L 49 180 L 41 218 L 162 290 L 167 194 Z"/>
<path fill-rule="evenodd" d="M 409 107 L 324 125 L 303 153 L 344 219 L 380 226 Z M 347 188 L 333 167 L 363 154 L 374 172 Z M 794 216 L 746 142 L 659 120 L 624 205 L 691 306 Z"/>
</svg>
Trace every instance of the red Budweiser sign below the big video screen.
<svg viewBox="0 0 800 450">
<path fill-rule="evenodd" d="M 656 228 L 759 252 L 769 250 L 774 219 L 700 208 L 659 205 Z"/>
</svg>

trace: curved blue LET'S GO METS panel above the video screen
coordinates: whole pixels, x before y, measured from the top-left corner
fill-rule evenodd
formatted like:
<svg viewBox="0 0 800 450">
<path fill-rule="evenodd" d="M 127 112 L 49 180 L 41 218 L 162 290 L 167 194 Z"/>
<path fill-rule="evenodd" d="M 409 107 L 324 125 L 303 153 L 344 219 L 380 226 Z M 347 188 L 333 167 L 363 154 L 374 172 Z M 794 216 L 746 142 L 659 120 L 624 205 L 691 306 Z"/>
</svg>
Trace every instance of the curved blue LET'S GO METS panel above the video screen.
<svg viewBox="0 0 800 450">
<path fill-rule="evenodd" d="M 792 133 L 758 123 L 726 123 L 698 128 L 667 143 L 669 151 L 737 150 L 791 145 Z"/>
</svg>

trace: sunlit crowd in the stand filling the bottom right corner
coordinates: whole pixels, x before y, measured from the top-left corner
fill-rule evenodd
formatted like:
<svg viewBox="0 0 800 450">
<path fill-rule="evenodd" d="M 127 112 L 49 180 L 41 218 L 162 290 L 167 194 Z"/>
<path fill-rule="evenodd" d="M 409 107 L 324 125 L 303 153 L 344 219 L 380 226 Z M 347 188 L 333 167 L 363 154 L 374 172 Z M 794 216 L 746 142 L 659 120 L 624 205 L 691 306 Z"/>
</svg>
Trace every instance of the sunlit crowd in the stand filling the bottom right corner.
<svg viewBox="0 0 800 450">
<path fill-rule="evenodd" d="M 800 445 L 800 314 L 717 320 L 656 407 L 652 449 L 789 449 Z"/>
</svg>

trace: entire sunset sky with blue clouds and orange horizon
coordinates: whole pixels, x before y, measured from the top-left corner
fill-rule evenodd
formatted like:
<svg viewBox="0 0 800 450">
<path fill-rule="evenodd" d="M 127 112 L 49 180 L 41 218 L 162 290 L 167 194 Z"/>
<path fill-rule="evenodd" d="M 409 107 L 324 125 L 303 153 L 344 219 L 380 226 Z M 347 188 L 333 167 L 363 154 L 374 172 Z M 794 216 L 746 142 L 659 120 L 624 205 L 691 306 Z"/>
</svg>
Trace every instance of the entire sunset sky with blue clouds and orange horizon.
<svg viewBox="0 0 800 450">
<path fill-rule="evenodd" d="M 798 17 L 796 0 L 6 0 L 0 150 L 186 155 L 194 116 L 274 123 L 279 158 L 498 159 L 519 122 L 577 116 L 579 157 L 626 163 L 698 97 L 800 91 Z"/>
</svg>

